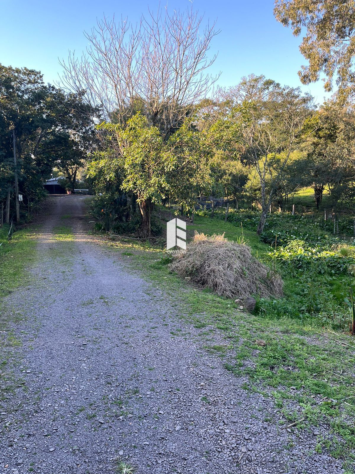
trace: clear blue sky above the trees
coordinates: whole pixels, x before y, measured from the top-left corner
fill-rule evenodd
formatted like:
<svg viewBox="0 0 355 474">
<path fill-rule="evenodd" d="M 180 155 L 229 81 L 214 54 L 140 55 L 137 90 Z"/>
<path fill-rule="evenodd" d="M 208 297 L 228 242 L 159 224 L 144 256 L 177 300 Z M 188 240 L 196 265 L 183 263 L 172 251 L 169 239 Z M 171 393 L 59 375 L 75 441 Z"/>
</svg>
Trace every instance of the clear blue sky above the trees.
<svg viewBox="0 0 355 474">
<path fill-rule="evenodd" d="M 105 14 L 136 22 L 148 6 L 159 0 L 0 0 L 0 63 L 40 70 L 45 82 L 58 80 L 58 57 L 68 50 L 85 49 L 83 31 Z M 161 1 L 161 5 L 165 2 Z M 169 0 L 169 8 L 185 9 L 189 0 Z M 194 0 L 205 19 L 217 20 L 221 33 L 214 38 L 211 55 L 218 52 L 211 72 L 221 72 L 219 84 L 234 85 L 249 73 L 264 74 L 282 84 L 301 86 L 297 71 L 305 60 L 299 53 L 301 38 L 294 38 L 273 15 L 272 0 Z M 322 82 L 302 86 L 316 102 L 328 97 Z"/>
</svg>

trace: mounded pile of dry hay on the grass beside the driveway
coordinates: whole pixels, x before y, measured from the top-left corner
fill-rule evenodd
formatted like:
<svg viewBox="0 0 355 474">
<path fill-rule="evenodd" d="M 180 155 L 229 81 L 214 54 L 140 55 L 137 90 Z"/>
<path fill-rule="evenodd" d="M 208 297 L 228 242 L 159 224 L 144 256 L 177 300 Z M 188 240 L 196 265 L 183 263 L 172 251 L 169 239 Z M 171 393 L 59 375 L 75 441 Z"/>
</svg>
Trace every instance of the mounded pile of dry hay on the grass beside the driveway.
<svg viewBox="0 0 355 474">
<path fill-rule="evenodd" d="M 223 235 L 195 234 L 186 252 L 177 254 L 170 269 L 227 298 L 283 295 L 280 276 L 251 255 L 250 247 Z"/>
</svg>

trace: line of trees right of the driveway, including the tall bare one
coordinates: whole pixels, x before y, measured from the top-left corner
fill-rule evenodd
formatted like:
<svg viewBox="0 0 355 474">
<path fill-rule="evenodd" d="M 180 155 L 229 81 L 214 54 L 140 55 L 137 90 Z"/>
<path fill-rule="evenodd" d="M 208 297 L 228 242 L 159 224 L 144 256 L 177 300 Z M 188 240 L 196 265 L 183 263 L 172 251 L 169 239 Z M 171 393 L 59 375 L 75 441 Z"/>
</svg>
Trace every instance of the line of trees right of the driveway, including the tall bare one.
<svg viewBox="0 0 355 474">
<path fill-rule="evenodd" d="M 139 216 L 149 237 L 156 203 L 191 212 L 202 194 L 243 195 L 259 202 L 260 234 L 270 205 L 302 186 L 317 207 L 327 187 L 337 216 L 354 192 L 352 104 L 316 109 L 300 89 L 254 75 L 201 99 L 218 79 L 206 73 L 217 32 L 201 30 L 193 9 L 142 17 L 136 29 L 106 19 L 87 34 L 87 55 L 62 64 L 63 81 L 89 91 L 105 118 L 88 166 L 104 228 Z"/>
</svg>

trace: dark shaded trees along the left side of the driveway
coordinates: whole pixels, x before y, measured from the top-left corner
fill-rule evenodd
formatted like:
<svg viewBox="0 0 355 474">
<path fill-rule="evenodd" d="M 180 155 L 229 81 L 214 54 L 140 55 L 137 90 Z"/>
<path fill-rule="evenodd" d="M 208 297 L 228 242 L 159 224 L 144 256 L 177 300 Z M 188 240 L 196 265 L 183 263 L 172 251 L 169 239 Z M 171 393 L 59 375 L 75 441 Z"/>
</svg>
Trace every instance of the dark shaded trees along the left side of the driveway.
<svg viewBox="0 0 355 474">
<path fill-rule="evenodd" d="M 0 205 L 5 204 L 6 221 L 27 218 L 54 167 L 73 189 L 97 143 L 97 116 L 83 91 L 65 92 L 44 84 L 37 71 L 0 64 Z M 16 216 L 18 194 L 21 216 Z"/>
</svg>

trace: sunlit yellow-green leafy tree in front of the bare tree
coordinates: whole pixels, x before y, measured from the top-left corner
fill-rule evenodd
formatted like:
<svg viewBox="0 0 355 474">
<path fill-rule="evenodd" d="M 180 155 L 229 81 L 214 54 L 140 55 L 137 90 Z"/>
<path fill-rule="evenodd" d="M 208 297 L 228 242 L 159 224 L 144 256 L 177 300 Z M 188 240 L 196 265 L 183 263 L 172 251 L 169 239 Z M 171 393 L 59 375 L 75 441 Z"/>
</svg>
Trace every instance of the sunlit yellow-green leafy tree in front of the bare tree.
<svg viewBox="0 0 355 474">
<path fill-rule="evenodd" d="M 202 165 L 208 150 L 191 120 L 168 139 L 140 113 L 124 125 L 103 123 L 99 129 L 109 134 L 107 149 L 89 164 L 88 175 L 95 179 L 100 174 L 114 185 L 119 181 L 122 191 L 133 193 L 142 237 L 151 237 L 155 203 L 169 196 L 185 208 L 191 207 L 191 197 L 208 178 Z"/>
</svg>

